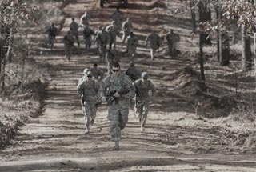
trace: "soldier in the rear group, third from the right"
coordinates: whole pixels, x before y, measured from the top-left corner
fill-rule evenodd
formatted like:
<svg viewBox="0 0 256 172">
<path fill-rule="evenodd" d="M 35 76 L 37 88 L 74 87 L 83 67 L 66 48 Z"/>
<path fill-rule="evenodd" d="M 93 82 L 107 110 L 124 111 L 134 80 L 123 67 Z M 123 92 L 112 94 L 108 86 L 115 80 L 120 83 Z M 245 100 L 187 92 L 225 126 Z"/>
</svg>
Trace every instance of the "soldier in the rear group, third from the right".
<svg viewBox="0 0 256 172">
<path fill-rule="evenodd" d="M 130 32 L 130 36 L 127 38 L 127 50 L 128 57 L 131 63 L 134 62 L 134 54 L 138 46 L 138 38 L 134 36 L 133 32 Z"/>
</svg>

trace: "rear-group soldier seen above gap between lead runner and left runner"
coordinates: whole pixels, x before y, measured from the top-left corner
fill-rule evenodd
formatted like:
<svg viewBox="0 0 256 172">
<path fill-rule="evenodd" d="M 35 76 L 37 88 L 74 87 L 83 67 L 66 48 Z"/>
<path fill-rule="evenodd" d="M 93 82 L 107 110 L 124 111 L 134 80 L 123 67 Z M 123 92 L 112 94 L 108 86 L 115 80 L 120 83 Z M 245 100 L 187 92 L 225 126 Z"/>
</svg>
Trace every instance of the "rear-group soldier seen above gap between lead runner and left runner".
<svg viewBox="0 0 256 172">
<path fill-rule="evenodd" d="M 102 26 L 102 30 L 98 31 L 98 34 L 96 35 L 96 39 L 99 41 L 99 52 L 100 52 L 100 58 L 102 61 L 104 61 L 106 56 L 106 45 L 110 39 L 110 35 L 106 32 L 105 27 Z"/>
</svg>

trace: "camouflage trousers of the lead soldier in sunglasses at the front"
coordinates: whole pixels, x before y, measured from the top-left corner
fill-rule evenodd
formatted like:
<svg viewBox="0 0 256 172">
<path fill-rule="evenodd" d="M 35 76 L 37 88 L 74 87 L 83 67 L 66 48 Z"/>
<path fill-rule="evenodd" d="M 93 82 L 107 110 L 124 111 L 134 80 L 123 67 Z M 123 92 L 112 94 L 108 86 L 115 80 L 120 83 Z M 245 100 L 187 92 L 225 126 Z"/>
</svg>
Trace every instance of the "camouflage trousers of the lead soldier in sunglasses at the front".
<svg viewBox="0 0 256 172">
<path fill-rule="evenodd" d="M 112 105 L 108 110 L 108 119 L 110 120 L 110 134 L 114 142 L 121 140 L 121 130 L 126 127 L 128 122 L 128 106 L 122 109 L 119 105 Z"/>
</svg>

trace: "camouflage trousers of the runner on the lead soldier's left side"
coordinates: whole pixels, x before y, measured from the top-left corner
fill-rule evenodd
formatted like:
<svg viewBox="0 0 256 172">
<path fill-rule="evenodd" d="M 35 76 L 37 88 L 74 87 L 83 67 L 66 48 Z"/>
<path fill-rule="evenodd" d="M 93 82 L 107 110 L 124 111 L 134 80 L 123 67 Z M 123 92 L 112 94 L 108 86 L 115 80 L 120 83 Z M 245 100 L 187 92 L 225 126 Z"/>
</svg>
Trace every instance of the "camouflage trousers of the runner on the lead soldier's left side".
<svg viewBox="0 0 256 172">
<path fill-rule="evenodd" d="M 88 128 L 91 124 L 94 124 L 94 120 L 96 118 L 96 107 L 91 106 L 94 105 L 94 102 L 85 102 L 84 106 L 82 106 L 82 114 L 85 115 L 85 125 Z"/>
</svg>

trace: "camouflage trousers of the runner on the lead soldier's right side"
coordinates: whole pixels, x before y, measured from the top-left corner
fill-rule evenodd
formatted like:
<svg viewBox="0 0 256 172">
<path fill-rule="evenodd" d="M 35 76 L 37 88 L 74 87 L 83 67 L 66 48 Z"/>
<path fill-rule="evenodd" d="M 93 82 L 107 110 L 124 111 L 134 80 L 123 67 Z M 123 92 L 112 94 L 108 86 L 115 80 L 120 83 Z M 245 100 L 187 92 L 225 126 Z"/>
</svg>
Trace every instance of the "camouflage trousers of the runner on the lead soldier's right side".
<svg viewBox="0 0 256 172">
<path fill-rule="evenodd" d="M 136 101 L 134 108 L 135 108 L 135 113 L 138 114 L 139 121 L 141 122 L 141 127 L 145 127 L 146 125 L 149 106 L 150 106 L 149 101 L 143 101 L 143 102 Z"/>
</svg>

